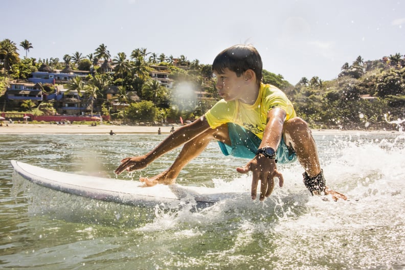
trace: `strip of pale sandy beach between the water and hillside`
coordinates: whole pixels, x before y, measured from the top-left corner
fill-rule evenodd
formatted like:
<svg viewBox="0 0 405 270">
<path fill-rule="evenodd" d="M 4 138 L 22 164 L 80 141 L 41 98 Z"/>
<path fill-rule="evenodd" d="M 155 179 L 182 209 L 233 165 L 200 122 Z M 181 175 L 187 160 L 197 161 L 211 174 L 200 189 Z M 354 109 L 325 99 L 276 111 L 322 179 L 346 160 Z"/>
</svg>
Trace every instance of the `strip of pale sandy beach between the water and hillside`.
<svg viewBox="0 0 405 270">
<path fill-rule="evenodd" d="M 126 126 L 126 125 L 56 125 L 56 124 L 21 124 L 3 123 L 0 134 L 108 134 L 113 130 L 116 134 L 169 134 L 172 125 L 167 126 Z M 173 125 L 175 129 L 180 126 Z M 394 130 L 341 130 L 341 129 L 312 129 L 314 134 L 401 134 Z"/>
</svg>

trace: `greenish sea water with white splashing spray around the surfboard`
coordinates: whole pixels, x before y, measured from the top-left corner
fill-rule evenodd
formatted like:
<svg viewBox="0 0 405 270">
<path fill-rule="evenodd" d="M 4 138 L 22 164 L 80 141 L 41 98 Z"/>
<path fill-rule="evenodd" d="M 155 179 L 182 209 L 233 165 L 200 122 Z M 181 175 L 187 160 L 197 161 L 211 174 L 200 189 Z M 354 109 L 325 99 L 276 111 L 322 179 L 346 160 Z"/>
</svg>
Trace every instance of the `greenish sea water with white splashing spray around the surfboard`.
<svg viewBox="0 0 405 270">
<path fill-rule="evenodd" d="M 314 135 L 327 185 L 347 201 L 310 196 L 300 165 L 279 166 L 284 187 L 201 211 L 118 205 L 56 192 L 13 173 L 10 160 L 116 177 L 122 158 L 165 135 L 0 134 L 2 269 L 405 269 L 405 136 Z M 166 169 L 178 150 L 127 181 Z M 250 190 L 247 161 L 215 142 L 179 175 L 182 185 Z"/>
</svg>

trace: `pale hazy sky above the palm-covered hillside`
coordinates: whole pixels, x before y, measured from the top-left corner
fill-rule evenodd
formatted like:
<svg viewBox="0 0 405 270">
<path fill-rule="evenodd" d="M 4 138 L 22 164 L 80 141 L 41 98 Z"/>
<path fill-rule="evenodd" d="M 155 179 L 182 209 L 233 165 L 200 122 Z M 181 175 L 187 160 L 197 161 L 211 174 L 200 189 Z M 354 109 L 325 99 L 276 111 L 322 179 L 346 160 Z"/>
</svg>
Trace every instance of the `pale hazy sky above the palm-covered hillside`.
<svg viewBox="0 0 405 270">
<path fill-rule="evenodd" d="M 34 58 L 146 48 L 211 64 L 237 43 L 251 43 L 263 68 L 296 84 L 331 80 L 357 56 L 405 54 L 405 0 L 3 0 L 0 40 L 29 40 Z"/>
</svg>

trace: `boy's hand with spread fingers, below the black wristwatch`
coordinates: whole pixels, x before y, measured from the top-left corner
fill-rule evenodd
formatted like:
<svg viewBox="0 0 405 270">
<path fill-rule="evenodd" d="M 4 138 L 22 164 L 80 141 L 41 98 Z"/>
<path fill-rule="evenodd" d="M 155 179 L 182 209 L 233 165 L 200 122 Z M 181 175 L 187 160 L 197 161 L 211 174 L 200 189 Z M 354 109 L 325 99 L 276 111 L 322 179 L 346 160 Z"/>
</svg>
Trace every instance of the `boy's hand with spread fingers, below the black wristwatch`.
<svg viewBox="0 0 405 270">
<path fill-rule="evenodd" d="M 284 184 L 283 175 L 277 170 L 276 161 L 268 159 L 265 156 L 259 154 L 256 155 L 253 160 L 246 164 L 244 167 L 236 168 L 239 173 L 253 172 L 252 178 L 252 199 L 256 199 L 257 185 L 259 180 L 260 185 L 260 200 L 263 201 L 265 197 L 270 196 L 274 188 L 274 177 L 279 178 L 279 186 Z"/>
</svg>

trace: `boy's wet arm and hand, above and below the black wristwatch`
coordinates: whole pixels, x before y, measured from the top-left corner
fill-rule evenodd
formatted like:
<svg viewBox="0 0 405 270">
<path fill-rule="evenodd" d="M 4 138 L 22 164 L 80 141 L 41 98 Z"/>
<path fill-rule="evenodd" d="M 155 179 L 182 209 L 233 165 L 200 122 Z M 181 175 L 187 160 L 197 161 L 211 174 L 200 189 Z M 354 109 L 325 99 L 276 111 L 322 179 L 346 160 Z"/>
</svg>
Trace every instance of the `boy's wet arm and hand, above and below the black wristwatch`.
<svg viewBox="0 0 405 270">
<path fill-rule="evenodd" d="M 286 112 L 281 108 L 274 108 L 268 111 L 267 125 L 264 129 L 263 139 L 259 148 L 267 146 L 275 150 L 277 149 L 281 141 L 285 118 Z M 277 171 L 276 161 L 267 158 L 263 154 L 256 155 L 245 167 L 237 168 L 236 170 L 240 173 L 252 171 L 252 199 L 256 199 L 259 180 L 261 181 L 260 200 L 264 200 L 265 197 L 268 197 L 272 193 L 274 177 L 279 178 L 280 187 L 284 183 L 283 175 Z"/>
</svg>

